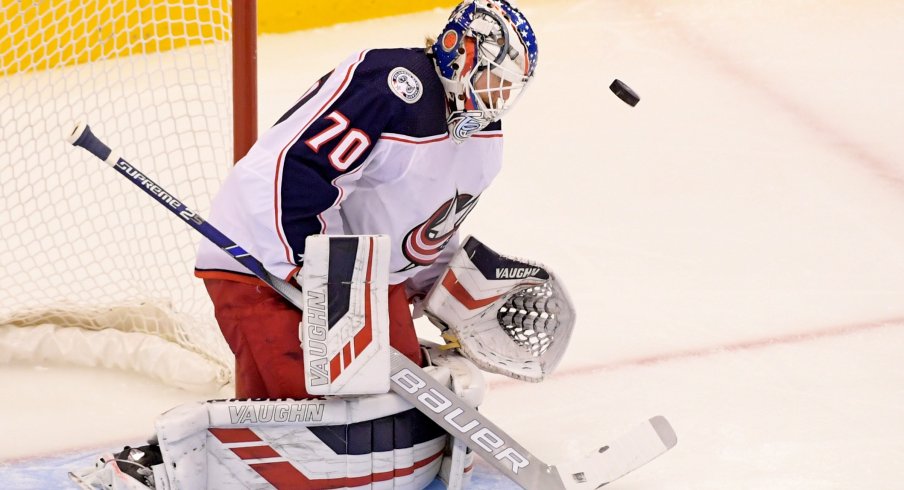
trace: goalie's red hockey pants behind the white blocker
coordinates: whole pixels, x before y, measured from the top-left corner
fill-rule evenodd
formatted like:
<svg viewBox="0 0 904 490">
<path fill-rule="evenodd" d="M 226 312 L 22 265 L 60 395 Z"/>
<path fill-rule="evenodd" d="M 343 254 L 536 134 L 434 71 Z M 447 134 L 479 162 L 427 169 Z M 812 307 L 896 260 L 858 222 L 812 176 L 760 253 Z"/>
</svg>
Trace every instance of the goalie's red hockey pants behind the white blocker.
<svg viewBox="0 0 904 490">
<path fill-rule="evenodd" d="M 235 354 L 237 398 L 307 398 L 298 325 L 301 312 L 269 286 L 204 279 Z M 389 287 L 389 343 L 412 361 L 421 351 L 405 287 Z"/>
</svg>

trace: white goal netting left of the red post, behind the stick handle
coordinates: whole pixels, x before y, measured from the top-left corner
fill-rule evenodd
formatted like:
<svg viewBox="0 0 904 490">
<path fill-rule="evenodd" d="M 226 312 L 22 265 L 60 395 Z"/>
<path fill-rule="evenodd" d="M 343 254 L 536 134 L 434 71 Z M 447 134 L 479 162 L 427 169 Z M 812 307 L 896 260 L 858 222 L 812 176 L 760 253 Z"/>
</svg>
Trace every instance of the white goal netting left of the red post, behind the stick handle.
<svg viewBox="0 0 904 490">
<path fill-rule="evenodd" d="M 0 362 L 231 380 L 200 236 L 63 136 L 88 121 L 206 215 L 233 161 L 232 20 L 226 0 L 0 7 Z"/>
</svg>

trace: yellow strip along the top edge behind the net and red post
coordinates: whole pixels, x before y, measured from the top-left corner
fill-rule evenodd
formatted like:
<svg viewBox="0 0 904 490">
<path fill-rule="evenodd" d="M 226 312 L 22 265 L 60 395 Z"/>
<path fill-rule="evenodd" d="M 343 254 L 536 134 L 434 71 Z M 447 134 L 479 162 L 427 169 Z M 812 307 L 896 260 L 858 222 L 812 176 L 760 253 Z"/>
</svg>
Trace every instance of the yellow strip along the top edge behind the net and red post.
<svg viewBox="0 0 904 490">
<path fill-rule="evenodd" d="M 242 0 L 237 0 L 242 1 Z M 258 33 L 451 8 L 456 0 L 258 0 Z M 0 76 L 225 41 L 226 0 L 2 0 Z"/>
</svg>

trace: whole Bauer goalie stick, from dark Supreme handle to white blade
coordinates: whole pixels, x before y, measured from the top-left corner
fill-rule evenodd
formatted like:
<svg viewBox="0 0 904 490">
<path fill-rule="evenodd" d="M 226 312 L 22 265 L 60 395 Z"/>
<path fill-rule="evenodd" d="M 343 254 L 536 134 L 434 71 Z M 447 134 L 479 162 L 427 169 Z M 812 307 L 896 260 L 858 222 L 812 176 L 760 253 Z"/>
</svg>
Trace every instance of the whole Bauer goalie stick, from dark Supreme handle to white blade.
<svg viewBox="0 0 904 490">
<path fill-rule="evenodd" d="M 255 257 L 114 153 L 91 132 L 86 123 L 79 123 L 67 137 L 67 141 L 73 146 L 84 148 L 113 167 L 205 238 L 229 253 L 299 310 L 304 309 L 298 288 L 267 272 Z M 675 432 L 668 421 L 664 417 L 654 417 L 584 459 L 557 466 L 548 465 L 394 348 L 390 348 L 390 359 L 390 387 L 393 392 L 449 434 L 464 441 L 474 452 L 523 488 L 598 488 L 652 461 L 677 443 Z"/>
</svg>

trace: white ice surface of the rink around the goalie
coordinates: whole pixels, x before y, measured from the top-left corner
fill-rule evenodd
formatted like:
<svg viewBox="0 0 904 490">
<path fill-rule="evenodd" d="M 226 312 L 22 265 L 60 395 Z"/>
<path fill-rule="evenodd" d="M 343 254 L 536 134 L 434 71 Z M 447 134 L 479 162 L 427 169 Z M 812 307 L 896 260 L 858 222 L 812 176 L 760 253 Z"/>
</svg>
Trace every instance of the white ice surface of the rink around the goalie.
<svg viewBox="0 0 904 490">
<path fill-rule="evenodd" d="M 613 488 L 900 488 L 904 4 L 520 5 L 537 80 L 463 231 L 556 270 L 579 322 L 556 375 L 493 377 L 483 413 L 550 463 L 668 417 L 678 446 Z M 445 16 L 262 37 L 262 127 L 347 54 Z M 198 396 L 0 369 L 7 460 L 129 442 Z"/>
</svg>

